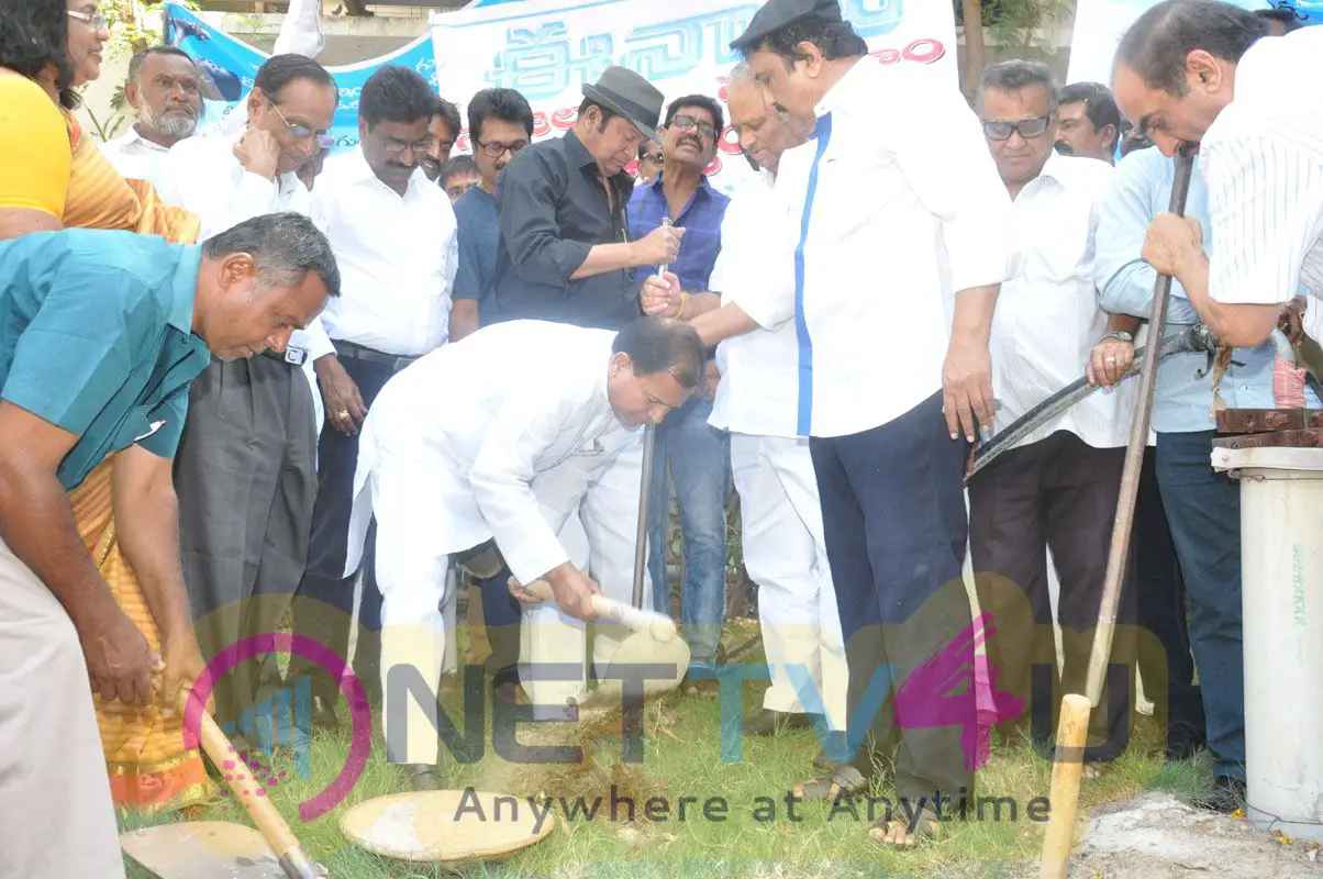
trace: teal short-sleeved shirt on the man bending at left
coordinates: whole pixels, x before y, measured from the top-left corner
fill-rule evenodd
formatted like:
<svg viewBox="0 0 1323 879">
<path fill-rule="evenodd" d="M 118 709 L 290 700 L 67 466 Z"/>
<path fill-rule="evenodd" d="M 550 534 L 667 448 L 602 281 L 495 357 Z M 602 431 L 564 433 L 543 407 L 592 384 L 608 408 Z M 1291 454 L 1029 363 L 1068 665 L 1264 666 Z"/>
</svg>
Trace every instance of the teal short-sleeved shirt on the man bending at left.
<svg viewBox="0 0 1323 879">
<path fill-rule="evenodd" d="M 212 360 L 192 331 L 200 263 L 201 248 L 131 232 L 0 242 L 0 397 L 78 437 L 65 488 L 134 443 L 175 455 Z"/>
</svg>

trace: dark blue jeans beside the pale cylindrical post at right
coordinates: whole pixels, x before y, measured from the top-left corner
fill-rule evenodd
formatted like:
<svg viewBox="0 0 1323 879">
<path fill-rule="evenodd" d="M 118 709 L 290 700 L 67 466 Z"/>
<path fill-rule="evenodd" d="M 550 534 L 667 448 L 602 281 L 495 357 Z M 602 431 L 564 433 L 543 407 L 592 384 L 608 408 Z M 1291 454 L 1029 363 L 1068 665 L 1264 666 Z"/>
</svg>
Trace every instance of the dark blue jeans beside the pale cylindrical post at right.
<svg viewBox="0 0 1323 879">
<path fill-rule="evenodd" d="M 1245 780 L 1240 486 L 1209 465 L 1213 432 L 1158 434 L 1158 487 L 1189 597 L 1213 772 Z"/>
</svg>

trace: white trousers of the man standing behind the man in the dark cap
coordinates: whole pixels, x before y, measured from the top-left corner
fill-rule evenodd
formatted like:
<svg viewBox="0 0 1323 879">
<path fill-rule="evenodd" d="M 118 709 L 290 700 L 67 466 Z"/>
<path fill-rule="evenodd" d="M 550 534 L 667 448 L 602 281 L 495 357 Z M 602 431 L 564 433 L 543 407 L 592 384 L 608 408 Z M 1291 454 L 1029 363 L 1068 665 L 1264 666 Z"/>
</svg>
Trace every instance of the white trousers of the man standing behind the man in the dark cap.
<svg viewBox="0 0 1323 879">
<path fill-rule="evenodd" d="M 808 441 L 730 434 L 741 539 L 771 671 L 763 707 L 845 728 L 845 646 Z"/>
</svg>

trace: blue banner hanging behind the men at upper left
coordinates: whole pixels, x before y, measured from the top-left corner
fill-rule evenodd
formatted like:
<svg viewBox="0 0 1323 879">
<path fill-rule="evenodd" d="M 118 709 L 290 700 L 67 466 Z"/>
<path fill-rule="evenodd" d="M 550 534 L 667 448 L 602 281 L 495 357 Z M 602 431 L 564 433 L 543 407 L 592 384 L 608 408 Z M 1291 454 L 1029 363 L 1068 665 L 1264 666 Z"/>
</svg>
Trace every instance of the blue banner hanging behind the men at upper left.
<svg viewBox="0 0 1323 879">
<path fill-rule="evenodd" d="M 173 3 L 163 7 L 163 16 L 161 42 L 187 52 L 202 74 L 206 105 L 204 122 L 208 126 L 224 127 L 226 118 L 234 110 L 238 110 L 242 118 L 242 101 L 253 89 L 257 69 L 270 56 L 210 26 Z M 331 135 L 336 139 L 332 152 L 343 152 L 359 143 L 359 94 L 368 77 L 388 64 L 413 68 L 431 83 L 433 89 L 437 87 L 437 58 L 433 54 L 431 37 L 426 33 L 388 56 L 327 68 L 340 89 L 340 106 L 336 107 L 331 126 Z"/>
</svg>

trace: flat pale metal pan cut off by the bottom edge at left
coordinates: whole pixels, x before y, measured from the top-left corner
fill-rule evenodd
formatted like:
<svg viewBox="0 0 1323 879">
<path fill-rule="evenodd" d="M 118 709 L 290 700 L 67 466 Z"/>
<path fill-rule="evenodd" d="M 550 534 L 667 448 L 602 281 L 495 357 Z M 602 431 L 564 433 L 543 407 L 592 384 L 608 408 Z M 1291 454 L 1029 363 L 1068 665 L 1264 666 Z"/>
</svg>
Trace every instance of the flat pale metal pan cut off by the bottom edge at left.
<svg viewBox="0 0 1323 879">
<path fill-rule="evenodd" d="M 224 821 L 130 830 L 119 845 L 160 879 L 284 879 L 261 833 Z"/>
</svg>

